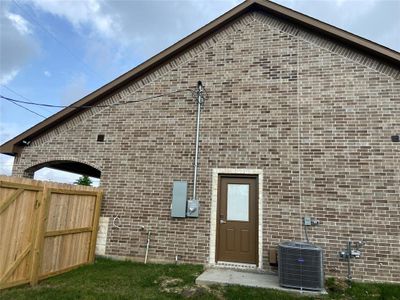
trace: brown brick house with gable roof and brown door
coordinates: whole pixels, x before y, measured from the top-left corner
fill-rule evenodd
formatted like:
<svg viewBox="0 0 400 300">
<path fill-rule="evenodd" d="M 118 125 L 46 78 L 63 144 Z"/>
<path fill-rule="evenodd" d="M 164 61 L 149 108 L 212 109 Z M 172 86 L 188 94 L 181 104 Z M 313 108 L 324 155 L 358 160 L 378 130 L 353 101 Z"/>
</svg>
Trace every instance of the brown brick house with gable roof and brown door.
<svg viewBox="0 0 400 300">
<path fill-rule="evenodd" d="M 199 80 L 198 217 L 175 218 L 174 181 L 192 197 Z M 105 255 L 143 260 L 151 230 L 150 261 L 273 270 L 269 251 L 305 240 L 310 216 L 327 274 L 346 275 L 338 253 L 364 240 L 353 277 L 400 282 L 399 116 L 398 52 L 254 0 L 0 150 L 16 176 L 101 177 Z"/>
</svg>

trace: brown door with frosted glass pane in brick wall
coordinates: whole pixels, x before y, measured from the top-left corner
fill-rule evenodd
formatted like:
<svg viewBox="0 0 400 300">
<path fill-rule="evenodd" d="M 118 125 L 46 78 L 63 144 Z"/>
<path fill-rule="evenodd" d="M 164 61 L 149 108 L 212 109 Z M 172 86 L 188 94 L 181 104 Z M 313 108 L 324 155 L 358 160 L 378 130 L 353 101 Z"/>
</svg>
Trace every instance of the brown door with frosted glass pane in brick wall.
<svg viewBox="0 0 400 300">
<path fill-rule="evenodd" d="M 218 261 L 257 263 L 257 211 L 257 177 L 219 177 Z"/>
</svg>

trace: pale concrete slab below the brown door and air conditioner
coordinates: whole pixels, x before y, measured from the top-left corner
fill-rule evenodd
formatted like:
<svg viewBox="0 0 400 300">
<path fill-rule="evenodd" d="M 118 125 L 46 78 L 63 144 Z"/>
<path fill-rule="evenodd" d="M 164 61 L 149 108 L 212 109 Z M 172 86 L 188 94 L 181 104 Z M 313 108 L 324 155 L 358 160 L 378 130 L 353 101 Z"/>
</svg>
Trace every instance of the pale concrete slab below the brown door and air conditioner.
<svg viewBox="0 0 400 300">
<path fill-rule="evenodd" d="M 244 272 L 231 269 L 210 268 L 196 278 L 198 285 L 242 285 L 264 289 L 276 289 L 285 292 L 307 293 L 312 295 L 326 294 L 326 291 L 304 291 L 279 286 L 277 275 L 267 273 Z"/>
</svg>

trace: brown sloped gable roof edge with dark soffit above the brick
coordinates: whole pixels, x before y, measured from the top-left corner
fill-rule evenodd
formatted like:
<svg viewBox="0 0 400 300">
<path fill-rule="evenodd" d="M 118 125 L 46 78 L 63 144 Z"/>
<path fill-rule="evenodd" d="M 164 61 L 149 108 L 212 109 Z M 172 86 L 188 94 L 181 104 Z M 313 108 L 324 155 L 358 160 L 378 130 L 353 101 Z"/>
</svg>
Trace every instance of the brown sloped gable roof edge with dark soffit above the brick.
<svg viewBox="0 0 400 300">
<path fill-rule="evenodd" d="M 382 61 L 385 61 L 391 65 L 394 65 L 397 68 L 400 68 L 400 53 L 397 51 L 391 50 L 370 40 L 359 37 L 355 34 L 321 22 L 317 19 L 311 18 L 268 0 L 246 0 L 245 2 L 239 4 L 219 18 L 208 23 L 207 25 L 185 37 L 184 39 L 178 41 L 174 45 L 151 57 L 139 66 L 133 68 L 127 73 L 119 76 L 118 78 L 114 79 L 113 81 L 109 82 L 98 90 L 75 102 L 73 106 L 79 107 L 83 105 L 94 105 L 98 101 L 104 99 L 106 96 L 124 86 L 126 83 L 135 80 L 141 76 L 144 76 L 150 70 L 156 68 L 157 66 L 160 66 L 178 53 L 181 53 L 184 50 L 190 48 L 199 40 L 220 29 L 228 22 L 252 10 L 265 11 L 269 14 L 286 19 L 292 23 L 321 33 L 334 40 L 351 46 L 358 51 L 377 57 Z M 58 113 L 50 116 L 44 121 L 38 123 L 37 125 L 31 127 L 30 129 L 1 145 L 0 153 L 15 155 L 19 152 L 19 147 L 22 146 L 22 141 L 31 140 L 42 134 L 46 130 L 51 129 L 52 127 L 55 127 L 62 122 L 65 122 L 74 114 L 82 112 L 84 110 L 84 108 L 67 107 L 59 111 Z"/>
</svg>

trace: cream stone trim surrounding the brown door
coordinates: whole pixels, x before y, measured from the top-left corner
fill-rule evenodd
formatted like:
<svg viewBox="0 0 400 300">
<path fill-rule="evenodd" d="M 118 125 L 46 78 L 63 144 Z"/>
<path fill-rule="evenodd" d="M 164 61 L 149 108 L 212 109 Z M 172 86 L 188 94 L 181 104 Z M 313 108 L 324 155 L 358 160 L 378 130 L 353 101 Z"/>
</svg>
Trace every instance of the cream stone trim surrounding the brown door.
<svg viewBox="0 0 400 300">
<path fill-rule="evenodd" d="M 218 213 L 218 194 L 219 194 L 219 178 L 221 175 L 254 176 L 257 178 L 258 194 L 258 263 L 257 268 L 262 269 L 263 263 L 263 171 L 261 169 L 213 169 L 212 170 L 212 193 L 211 193 L 211 220 L 210 220 L 210 250 L 209 265 L 216 265 L 217 251 L 217 213 Z"/>
</svg>

